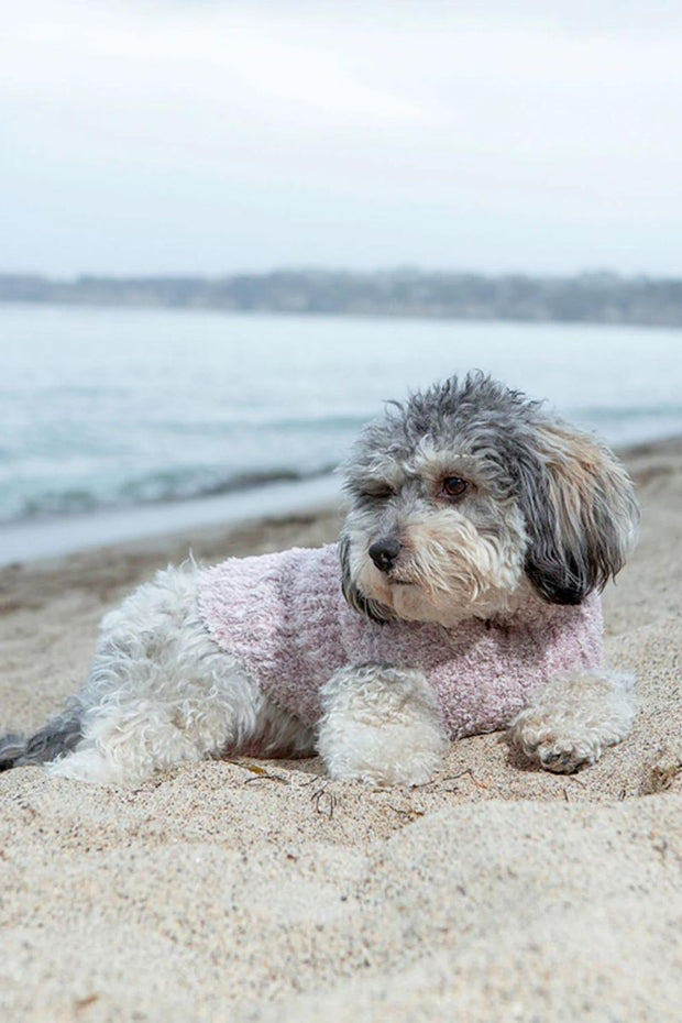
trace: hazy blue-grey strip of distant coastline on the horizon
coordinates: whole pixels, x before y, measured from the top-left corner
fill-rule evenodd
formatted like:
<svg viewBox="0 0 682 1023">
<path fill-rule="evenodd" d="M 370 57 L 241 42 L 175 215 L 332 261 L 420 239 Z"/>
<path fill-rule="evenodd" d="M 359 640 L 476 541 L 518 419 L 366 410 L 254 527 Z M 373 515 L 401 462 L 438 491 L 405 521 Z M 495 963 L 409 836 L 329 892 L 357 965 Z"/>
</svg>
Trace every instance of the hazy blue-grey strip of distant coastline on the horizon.
<svg viewBox="0 0 682 1023">
<path fill-rule="evenodd" d="M 0 301 L 329 316 L 682 327 L 682 278 L 386 270 L 222 277 L 0 274 Z"/>
</svg>

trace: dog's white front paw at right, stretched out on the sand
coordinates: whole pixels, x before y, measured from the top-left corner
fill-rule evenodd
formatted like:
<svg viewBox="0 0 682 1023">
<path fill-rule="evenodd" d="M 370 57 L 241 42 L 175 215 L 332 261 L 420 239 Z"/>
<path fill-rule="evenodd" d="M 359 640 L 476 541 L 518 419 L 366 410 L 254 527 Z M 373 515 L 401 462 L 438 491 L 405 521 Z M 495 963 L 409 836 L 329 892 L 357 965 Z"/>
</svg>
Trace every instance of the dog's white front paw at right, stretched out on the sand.
<svg viewBox="0 0 682 1023">
<path fill-rule="evenodd" d="M 595 763 L 629 733 L 637 704 L 632 675 L 583 671 L 548 683 L 509 726 L 509 739 L 547 771 Z"/>
</svg>

